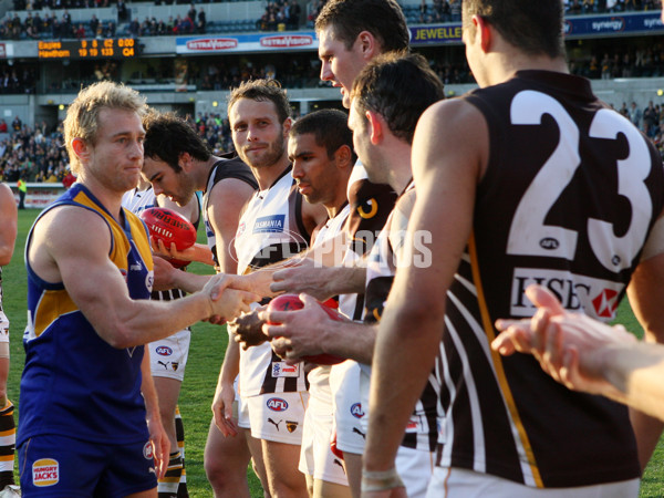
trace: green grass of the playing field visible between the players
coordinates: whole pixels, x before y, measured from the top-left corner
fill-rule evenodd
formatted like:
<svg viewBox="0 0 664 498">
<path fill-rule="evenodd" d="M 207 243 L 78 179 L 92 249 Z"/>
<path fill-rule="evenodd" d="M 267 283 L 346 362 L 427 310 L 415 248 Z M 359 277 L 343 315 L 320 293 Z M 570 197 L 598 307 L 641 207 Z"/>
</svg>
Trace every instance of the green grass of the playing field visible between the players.
<svg viewBox="0 0 664 498">
<path fill-rule="evenodd" d="M 25 326 L 25 267 L 23 248 L 32 221 L 39 214 L 35 209 L 19 211 L 19 236 L 11 263 L 3 269 L 4 311 L 11 322 L 12 364 L 9 378 L 9 397 L 20 409 L 19 382 L 23 367 L 24 353 L 21 343 Z M 207 272 L 203 266 L 191 264 L 193 271 Z M 101 283 L 101 282 L 100 282 Z M 625 302 L 619 309 L 618 321 L 627 330 L 642 333 L 630 305 Z M 180 412 L 185 423 L 187 481 L 193 498 L 211 497 L 211 488 L 203 468 L 203 450 L 210 422 L 210 403 L 215 393 L 219 366 L 226 351 L 228 335 L 226 328 L 198 323 L 194 325 L 187 374 L 180 395 Z M 18 421 L 18 415 L 17 415 Z M 563 435 L 561 435 L 563 436 Z M 564 458 L 561 455 L 561 458 Z M 260 484 L 249 469 L 252 497 L 262 497 Z M 17 476 L 18 477 L 18 476 Z M 641 487 L 641 497 L 664 496 L 664 439 L 646 469 Z"/>
</svg>

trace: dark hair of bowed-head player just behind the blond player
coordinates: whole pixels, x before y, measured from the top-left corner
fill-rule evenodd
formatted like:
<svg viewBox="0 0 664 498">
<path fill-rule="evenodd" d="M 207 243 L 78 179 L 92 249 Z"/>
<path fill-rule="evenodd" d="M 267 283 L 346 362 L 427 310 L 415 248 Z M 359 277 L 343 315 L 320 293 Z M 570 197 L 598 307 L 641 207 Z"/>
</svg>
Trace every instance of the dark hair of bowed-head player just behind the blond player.
<svg viewBox="0 0 664 498">
<path fill-rule="evenodd" d="M 143 127 L 144 156 L 163 160 L 175 169 L 175 173 L 181 170 L 178 160 L 183 153 L 188 153 L 198 160 L 208 160 L 211 156 L 208 144 L 189 123 L 175 113 L 159 113 L 153 110 L 143 118 Z"/>
</svg>

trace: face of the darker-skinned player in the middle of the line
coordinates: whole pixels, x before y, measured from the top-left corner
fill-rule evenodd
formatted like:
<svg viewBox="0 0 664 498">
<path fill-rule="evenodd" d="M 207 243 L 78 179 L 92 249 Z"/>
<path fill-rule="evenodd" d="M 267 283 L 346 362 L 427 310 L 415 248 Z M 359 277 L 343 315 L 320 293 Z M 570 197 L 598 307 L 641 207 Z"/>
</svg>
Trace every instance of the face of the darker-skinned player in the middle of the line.
<svg viewBox="0 0 664 498">
<path fill-rule="evenodd" d="M 292 176 L 300 194 L 309 204 L 334 201 L 338 169 L 335 158 L 328 157 L 325 147 L 315 143 L 315 136 L 307 133 L 291 135 L 288 141 L 288 158 L 293 164 Z"/>
</svg>

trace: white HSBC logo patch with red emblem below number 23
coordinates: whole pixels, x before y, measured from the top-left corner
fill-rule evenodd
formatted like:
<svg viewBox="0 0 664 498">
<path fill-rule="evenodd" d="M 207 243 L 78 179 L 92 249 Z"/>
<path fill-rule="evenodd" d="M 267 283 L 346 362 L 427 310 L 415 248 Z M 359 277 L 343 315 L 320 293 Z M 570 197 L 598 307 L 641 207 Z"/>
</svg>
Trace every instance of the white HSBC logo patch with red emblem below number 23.
<svg viewBox="0 0 664 498">
<path fill-rule="evenodd" d="M 510 301 L 512 317 L 532 317 L 535 313 L 535 305 L 523 293 L 531 283 L 549 289 L 567 310 L 582 311 L 603 321 L 615 318 L 618 298 L 625 288 L 622 282 L 594 279 L 563 270 L 516 268 Z"/>
</svg>

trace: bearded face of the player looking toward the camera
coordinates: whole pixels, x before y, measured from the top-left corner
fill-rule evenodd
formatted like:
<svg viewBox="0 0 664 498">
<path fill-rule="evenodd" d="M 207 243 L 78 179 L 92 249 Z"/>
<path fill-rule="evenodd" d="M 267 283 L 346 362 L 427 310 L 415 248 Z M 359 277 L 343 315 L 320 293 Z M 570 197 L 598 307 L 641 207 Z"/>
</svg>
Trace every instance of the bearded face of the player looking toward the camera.
<svg viewBox="0 0 664 498">
<path fill-rule="evenodd" d="M 269 167 L 286 155 L 290 121 L 279 123 L 272 102 L 240 98 L 228 111 L 228 118 L 236 151 L 249 166 Z"/>
</svg>

